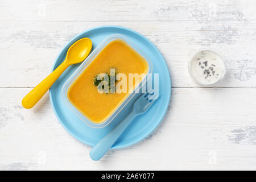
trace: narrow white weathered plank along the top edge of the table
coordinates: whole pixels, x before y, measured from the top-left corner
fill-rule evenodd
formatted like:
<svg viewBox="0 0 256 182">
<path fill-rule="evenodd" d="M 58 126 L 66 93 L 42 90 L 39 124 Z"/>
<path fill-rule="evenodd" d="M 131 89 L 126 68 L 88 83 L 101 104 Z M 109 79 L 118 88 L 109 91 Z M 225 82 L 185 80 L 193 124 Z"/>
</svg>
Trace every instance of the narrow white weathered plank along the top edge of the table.
<svg viewBox="0 0 256 182">
<path fill-rule="evenodd" d="M 2 21 L 196 20 L 244 22 L 256 19 L 255 1 L 2 1 Z"/>
</svg>

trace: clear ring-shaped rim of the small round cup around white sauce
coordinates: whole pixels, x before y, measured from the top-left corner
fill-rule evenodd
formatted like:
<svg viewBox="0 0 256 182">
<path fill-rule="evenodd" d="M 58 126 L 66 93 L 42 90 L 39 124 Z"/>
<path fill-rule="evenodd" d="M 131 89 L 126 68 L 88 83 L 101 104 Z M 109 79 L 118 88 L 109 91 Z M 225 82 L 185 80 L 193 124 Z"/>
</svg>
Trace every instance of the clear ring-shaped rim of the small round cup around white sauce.
<svg viewBox="0 0 256 182">
<path fill-rule="evenodd" d="M 195 56 L 197 56 L 199 53 L 204 52 L 204 51 L 210 51 L 212 53 L 214 53 L 215 55 L 217 55 L 218 57 L 221 57 L 223 63 L 224 63 L 224 73 L 222 74 L 222 76 L 216 81 L 213 82 L 212 84 L 205 84 L 203 82 L 200 82 L 191 72 L 191 65 L 192 65 L 192 60 L 195 58 Z M 217 52 L 216 50 L 212 49 L 212 48 L 203 48 L 200 49 L 198 51 L 192 51 L 193 53 L 190 53 L 191 56 L 189 56 L 189 61 L 188 61 L 188 72 L 189 75 L 192 77 L 192 79 L 199 85 L 202 86 L 214 86 L 219 84 L 222 80 L 224 80 L 226 73 L 228 72 L 228 63 L 225 59 L 225 57 L 223 55 L 221 55 L 221 53 Z"/>
</svg>

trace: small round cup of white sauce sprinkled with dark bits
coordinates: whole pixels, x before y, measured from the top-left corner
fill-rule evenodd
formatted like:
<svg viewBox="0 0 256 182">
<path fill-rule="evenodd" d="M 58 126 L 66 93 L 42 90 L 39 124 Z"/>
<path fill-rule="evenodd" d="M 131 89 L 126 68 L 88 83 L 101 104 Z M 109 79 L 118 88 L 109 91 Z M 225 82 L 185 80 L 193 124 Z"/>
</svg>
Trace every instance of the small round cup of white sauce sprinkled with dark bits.
<svg viewBox="0 0 256 182">
<path fill-rule="evenodd" d="M 212 50 L 197 52 L 189 65 L 191 76 L 202 85 L 220 81 L 226 72 L 224 59 Z"/>
</svg>

